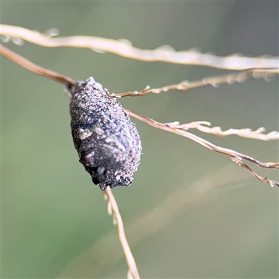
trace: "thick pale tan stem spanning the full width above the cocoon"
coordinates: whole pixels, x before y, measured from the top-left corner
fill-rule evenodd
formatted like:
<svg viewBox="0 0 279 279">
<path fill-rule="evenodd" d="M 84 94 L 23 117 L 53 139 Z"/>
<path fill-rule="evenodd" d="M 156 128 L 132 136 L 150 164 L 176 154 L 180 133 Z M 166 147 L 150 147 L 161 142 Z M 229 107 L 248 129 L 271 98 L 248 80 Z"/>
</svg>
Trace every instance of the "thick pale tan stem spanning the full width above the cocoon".
<svg viewBox="0 0 279 279">
<path fill-rule="evenodd" d="M 111 52 L 119 56 L 140 61 L 163 61 L 183 65 L 207 66 L 226 70 L 247 70 L 251 68 L 276 68 L 278 57 L 245 57 L 239 54 L 216 56 L 210 53 L 202 54 L 197 50 L 176 52 L 172 47 L 161 46 L 155 50 L 141 50 L 128 40 L 110 40 L 94 36 L 71 36 L 52 38 L 38 31 L 6 24 L 0 25 L 1 35 L 22 38 L 30 43 L 44 47 L 84 47 L 98 52 Z"/>
</svg>

